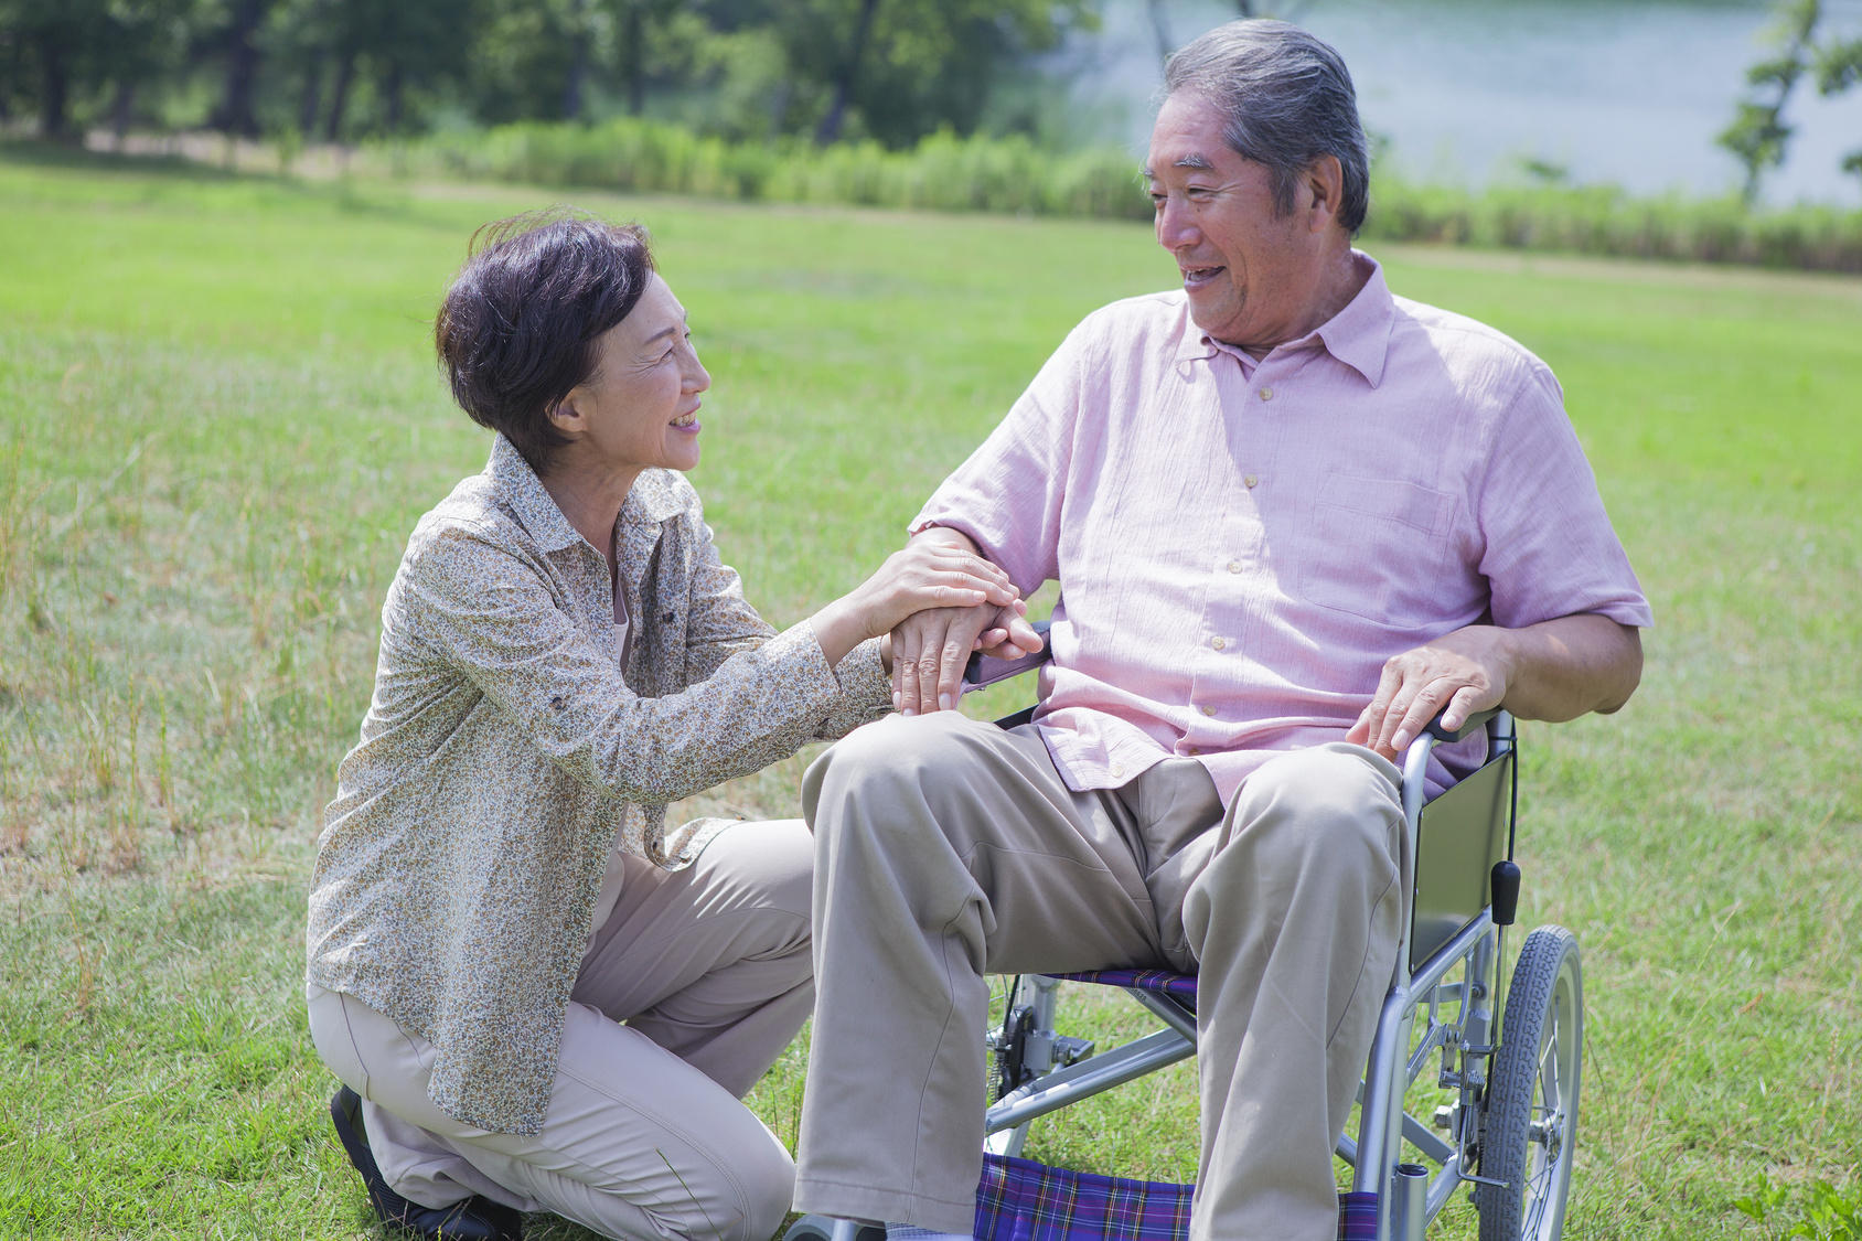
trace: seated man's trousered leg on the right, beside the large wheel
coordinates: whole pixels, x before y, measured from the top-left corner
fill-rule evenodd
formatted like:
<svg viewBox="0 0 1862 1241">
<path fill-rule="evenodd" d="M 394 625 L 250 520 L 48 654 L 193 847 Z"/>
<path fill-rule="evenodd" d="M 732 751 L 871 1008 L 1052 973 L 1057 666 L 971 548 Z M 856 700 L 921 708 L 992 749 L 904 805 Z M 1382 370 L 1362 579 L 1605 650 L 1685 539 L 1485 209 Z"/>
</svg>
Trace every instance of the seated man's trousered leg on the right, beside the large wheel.
<svg viewBox="0 0 1862 1241">
<path fill-rule="evenodd" d="M 1195 1241 L 1331 1241 L 1331 1150 L 1370 1053 L 1404 906 L 1398 771 L 1369 749 L 1277 757 L 1190 885 L 1203 1170 Z"/>
</svg>

